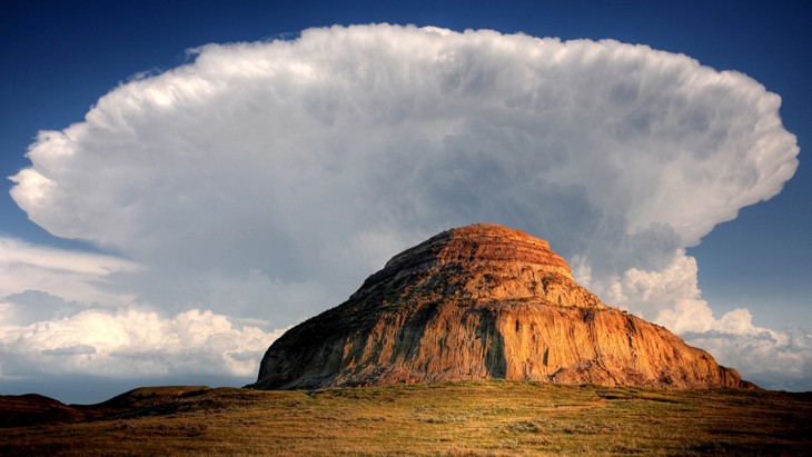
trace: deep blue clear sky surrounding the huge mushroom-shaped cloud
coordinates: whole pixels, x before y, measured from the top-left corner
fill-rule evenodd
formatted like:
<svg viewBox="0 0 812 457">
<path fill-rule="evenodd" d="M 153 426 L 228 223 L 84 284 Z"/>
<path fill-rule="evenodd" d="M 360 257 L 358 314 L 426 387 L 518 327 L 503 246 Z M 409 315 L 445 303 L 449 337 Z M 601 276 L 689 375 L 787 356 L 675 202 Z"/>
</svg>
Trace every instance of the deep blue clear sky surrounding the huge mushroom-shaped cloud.
<svg viewBox="0 0 812 457">
<path fill-rule="evenodd" d="M 120 81 L 181 64 L 186 49 L 370 22 L 612 38 L 744 72 L 782 96 L 784 126 L 801 147 L 795 177 L 780 196 L 745 208 L 689 254 L 699 261 L 700 287 L 716 317 L 749 307 L 756 325 L 812 328 L 812 168 L 805 159 L 812 145 L 812 2 L 0 0 L 0 175 L 30 165 L 23 153 L 38 130 L 82 121 Z M 8 195 L 11 185 L 0 186 L 0 234 L 91 249 L 28 221 Z"/>
</svg>

